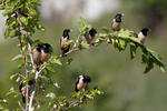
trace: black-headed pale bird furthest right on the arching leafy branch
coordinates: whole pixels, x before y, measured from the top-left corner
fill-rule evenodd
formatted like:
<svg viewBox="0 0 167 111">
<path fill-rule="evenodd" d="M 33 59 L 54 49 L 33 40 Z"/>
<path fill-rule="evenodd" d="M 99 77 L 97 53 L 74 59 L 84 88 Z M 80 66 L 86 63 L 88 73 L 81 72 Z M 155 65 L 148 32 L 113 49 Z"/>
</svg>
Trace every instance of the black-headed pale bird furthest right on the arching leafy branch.
<svg viewBox="0 0 167 111">
<path fill-rule="evenodd" d="M 145 40 L 146 40 L 146 37 L 147 37 L 147 33 L 151 31 L 150 29 L 148 28 L 144 28 L 140 30 L 140 32 L 138 33 L 138 39 L 140 40 L 140 42 L 144 44 L 145 43 Z"/>
</svg>

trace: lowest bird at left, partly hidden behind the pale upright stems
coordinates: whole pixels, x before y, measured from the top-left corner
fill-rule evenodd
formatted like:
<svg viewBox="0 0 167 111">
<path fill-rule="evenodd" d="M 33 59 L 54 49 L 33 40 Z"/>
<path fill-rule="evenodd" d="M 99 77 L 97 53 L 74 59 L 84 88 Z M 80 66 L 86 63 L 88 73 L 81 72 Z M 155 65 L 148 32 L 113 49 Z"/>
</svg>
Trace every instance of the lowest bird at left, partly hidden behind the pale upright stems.
<svg viewBox="0 0 167 111">
<path fill-rule="evenodd" d="M 35 79 L 31 79 L 29 82 L 28 82 L 28 85 L 23 85 L 23 81 L 21 81 L 20 85 L 19 85 L 19 90 L 20 90 L 20 93 L 22 95 L 22 102 L 26 103 L 26 93 L 27 93 L 27 89 L 29 89 L 28 91 L 28 94 L 30 95 L 30 85 L 35 84 Z"/>
</svg>

